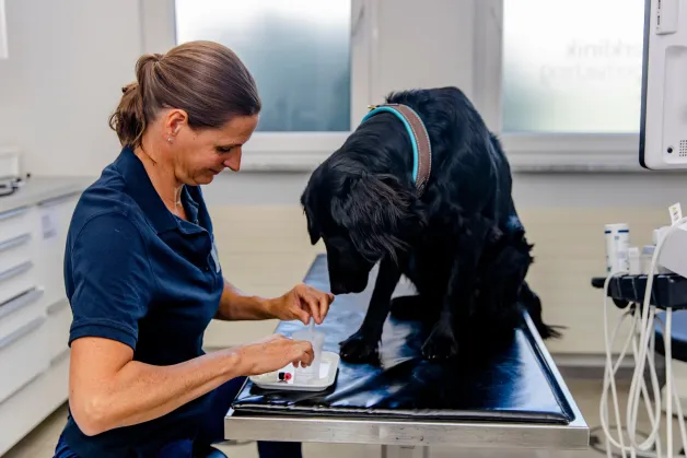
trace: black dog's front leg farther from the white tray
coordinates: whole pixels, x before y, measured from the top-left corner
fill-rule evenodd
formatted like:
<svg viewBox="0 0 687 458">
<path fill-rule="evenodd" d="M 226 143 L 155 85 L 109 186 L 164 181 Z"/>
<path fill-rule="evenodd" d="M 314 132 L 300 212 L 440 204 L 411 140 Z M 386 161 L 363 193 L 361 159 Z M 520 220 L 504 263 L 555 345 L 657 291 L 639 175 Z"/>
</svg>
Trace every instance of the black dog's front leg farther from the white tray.
<svg viewBox="0 0 687 458">
<path fill-rule="evenodd" d="M 456 356 L 458 344 L 455 329 L 466 325 L 474 300 L 476 270 L 489 234 L 491 223 L 481 218 L 471 218 L 470 224 L 458 238 L 449 275 L 446 290 L 441 297 L 440 317 L 422 345 L 428 360 L 446 360 Z"/>
</svg>

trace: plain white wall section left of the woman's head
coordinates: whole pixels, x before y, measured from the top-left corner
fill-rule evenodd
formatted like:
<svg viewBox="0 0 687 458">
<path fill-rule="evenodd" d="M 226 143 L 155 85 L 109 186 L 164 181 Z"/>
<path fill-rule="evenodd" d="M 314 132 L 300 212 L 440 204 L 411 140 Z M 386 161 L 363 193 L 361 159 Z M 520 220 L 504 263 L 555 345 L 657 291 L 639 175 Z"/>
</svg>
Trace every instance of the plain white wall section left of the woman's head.
<svg viewBox="0 0 687 458">
<path fill-rule="evenodd" d="M 8 0 L 0 145 L 36 175 L 95 175 L 116 156 L 107 119 L 141 49 L 138 0 Z"/>
</svg>

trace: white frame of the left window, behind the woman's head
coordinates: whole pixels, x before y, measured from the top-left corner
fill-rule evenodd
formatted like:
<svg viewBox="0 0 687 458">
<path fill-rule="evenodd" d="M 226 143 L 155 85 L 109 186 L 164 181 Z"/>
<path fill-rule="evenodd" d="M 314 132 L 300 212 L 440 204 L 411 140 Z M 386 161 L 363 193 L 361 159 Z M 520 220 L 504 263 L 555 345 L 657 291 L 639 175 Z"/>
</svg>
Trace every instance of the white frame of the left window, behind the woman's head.
<svg viewBox="0 0 687 458">
<path fill-rule="evenodd" d="M 143 52 L 176 45 L 175 0 L 139 0 Z M 351 134 L 368 111 L 376 44 L 376 0 L 351 0 L 351 130 L 339 132 L 256 131 L 244 146 L 243 171 L 314 169 Z"/>
</svg>

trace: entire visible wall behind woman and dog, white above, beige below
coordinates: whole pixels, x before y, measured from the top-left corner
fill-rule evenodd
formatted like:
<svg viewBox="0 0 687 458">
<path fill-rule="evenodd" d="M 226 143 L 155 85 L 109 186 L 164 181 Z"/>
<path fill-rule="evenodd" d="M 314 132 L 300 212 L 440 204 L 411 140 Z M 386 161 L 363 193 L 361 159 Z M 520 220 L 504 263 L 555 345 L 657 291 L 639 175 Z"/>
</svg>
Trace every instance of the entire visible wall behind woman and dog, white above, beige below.
<svg viewBox="0 0 687 458">
<path fill-rule="evenodd" d="M 455 84 L 473 94 L 479 84 L 473 66 L 476 1 L 481 0 L 427 0 L 418 9 L 414 0 L 379 0 L 366 11 L 379 21 L 368 82 L 372 102 L 408 86 Z M 119 150 L 107 118 L 120 87 L 133 78 L 136 59 L 143 50 L 172 46 L 170 4 L 9 0 L 11 57 L 0 61 L 0 145 L 21 148 L 34 174 L 97 175 Z M 307 176 L 228 173 L 207 188 L 221 257 L 238 286 L 272 294 L 304 272 L 313 251 L 298 198 Z M 571 328 L 566 340 L 552 343 L 555 351 L 603 348 L 601 295 L 589 283 L 604 268 L 603 224 L 630 222 L 634 240 L 644 243 L 653 226 L 668 221 L 664 209 L 685 201 L 684 183 L 664 174 L 516 174 L 515 199 L 537 250 L 532 281 L 550 320 Z M 255 334 L 246 337 L 235 333 L 245 327 L 213 329 L 209 339 L 216 345 L 269 331 L 254 327 Z"/>
</svg>

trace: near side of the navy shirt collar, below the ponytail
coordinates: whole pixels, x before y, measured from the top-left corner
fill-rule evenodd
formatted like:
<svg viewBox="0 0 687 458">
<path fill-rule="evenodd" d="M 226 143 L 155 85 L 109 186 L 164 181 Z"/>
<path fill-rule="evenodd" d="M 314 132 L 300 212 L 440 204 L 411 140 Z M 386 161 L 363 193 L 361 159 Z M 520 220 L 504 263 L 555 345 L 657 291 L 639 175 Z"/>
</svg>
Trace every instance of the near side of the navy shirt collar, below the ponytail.
<svg viewBox="0 0 687 458">
<path fill-rule="evenodd" d="M 139 204 L 158 233 L 177 228 L 177 222 L 153 187 L 145 167 L 130 148 L 124 148 L 115 162 L 124 175 L 129 196 Z"/>
</svg>

